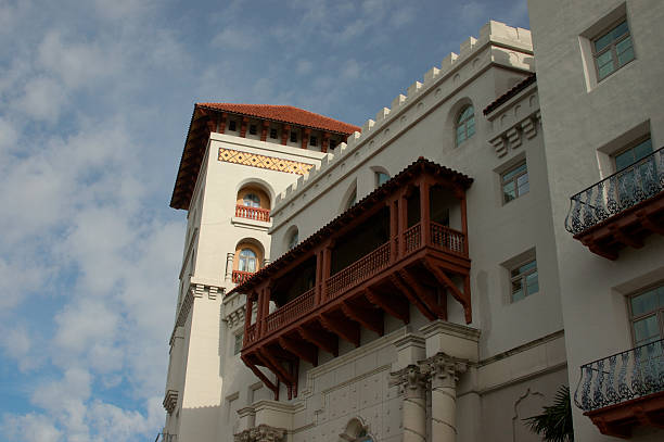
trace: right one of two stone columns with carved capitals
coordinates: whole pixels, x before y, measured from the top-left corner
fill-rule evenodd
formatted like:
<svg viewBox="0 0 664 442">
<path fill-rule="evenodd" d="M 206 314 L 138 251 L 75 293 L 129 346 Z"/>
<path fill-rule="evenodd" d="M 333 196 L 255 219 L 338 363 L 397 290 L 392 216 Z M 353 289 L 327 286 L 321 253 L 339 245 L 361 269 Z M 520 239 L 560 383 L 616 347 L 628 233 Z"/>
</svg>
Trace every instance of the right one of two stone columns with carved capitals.
<svg viewBox="0 0 664 442">
<path fill-rule="evenodd" d="M 437 353 L 422 362 L 431 379 L 431 441 L 457 440 L 457 380 L 468 362 Z"/>
</svg>

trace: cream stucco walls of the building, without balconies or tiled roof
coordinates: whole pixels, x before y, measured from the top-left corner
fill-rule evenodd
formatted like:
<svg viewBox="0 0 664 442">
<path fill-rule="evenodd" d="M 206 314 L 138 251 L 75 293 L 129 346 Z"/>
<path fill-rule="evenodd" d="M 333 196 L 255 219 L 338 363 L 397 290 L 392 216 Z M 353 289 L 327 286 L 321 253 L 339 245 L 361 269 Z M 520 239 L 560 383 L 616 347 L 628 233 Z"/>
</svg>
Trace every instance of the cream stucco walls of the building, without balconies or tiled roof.
<svg viewBox="0 0 664 442">
<path fill-rule="evenodd" d="M 661 143 L 664 58 L 653 36 L 662 34 L 664 7 L 529 0 L 529 8 L 534 38 L 489 22 L 327 153 L 283 146 L 280 136 L 209 132 L 188 210 L 164 440 L 537 441 L 524 418 L 550 405 L 561 386 L 574 395 L 583 364 L 635 346 L 628 296 L 664 280 L 664 240 L 649 236 L 611 261 L 574 239 L 564 220 L 571 195 L 614 172 L 624 141 L 647 132 L 655 150 Z M 627 15 L 637 55 L 598 81 L 584 50 L 612 14 Z M 469 106 L 473 129 L 460 142 L 459 115 Z M 308 173 L 255 165 L 265 157 L 308 165 Z M 232 292 L 234 254 L 251 244 L 277 261 L 294 231 L 299 242 L 315 235 L 371 194 L 379 173 L 394 177 L 419 157 L 473 179 L 463 206 L 439 201 L 447 227 L 467 224 L 472 321 L 443 290 L 446 320 L 416 305 L 407 325 L 385 314 L 384 333 L 360 328 L 358 346 L 339 339 L 339 355 L 318 351 L 317 366 L 299 359 L 292 397 L 260 367 L 277 386 L 276 401 L 238 352 L 246 316 L 255 323 L 259 313 Z M 510 180 L 514 193 L 506 197 Z M 269 198 L 269 222 L 238 216 L 247 187 Z M 535 277 L 515 291 L 526 265 Z M 463 290 L 460 280 L 450 283 Z M 271 302 L 269 312 L 277 308 Z M 576 440 L 608 440 L 572 408 Z M 631 437 L 662 434 L 642 426 Z"/>
</svg>

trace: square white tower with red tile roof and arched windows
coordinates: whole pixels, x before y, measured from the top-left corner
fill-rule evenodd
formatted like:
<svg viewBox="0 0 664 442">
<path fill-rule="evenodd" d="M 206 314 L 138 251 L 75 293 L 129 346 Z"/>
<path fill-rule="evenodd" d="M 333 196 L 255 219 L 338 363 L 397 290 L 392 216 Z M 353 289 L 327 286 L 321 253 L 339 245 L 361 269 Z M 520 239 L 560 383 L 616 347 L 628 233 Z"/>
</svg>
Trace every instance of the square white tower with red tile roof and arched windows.
<svg viewBox="0 0 664 442">
<path fill-rule="evenodd" d="M 188 222 L 169 340 L 164 440 L 218 440 L 224 353 L 242 343 L 241 332 L 222 327 L 229 320 L 224 293 L 269 261 L 276 197 L 356 130 L 292 106 L 194 105 L 170 201 L 187 211 Z M 297 231 L 290 241 L 297 243 Z"/>
</svg>

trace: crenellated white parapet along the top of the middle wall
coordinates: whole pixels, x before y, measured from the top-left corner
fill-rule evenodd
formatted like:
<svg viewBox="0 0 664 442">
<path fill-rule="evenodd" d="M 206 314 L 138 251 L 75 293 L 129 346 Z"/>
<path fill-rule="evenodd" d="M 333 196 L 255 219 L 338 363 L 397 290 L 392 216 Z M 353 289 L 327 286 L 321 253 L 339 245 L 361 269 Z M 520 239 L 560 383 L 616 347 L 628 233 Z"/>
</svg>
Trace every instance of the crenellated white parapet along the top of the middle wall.
<svg viewBox="0 0 664 442">
<path fill-rule="evenodd" d="M 312 167 L 278 194 L 271 212 L 272 229 L 310 203 L 312 195 L 317 198 L 320 186 L 328 187 L 345 177 L 491 65 L 533 72 L 531 31 L 494 21 L 484 25 L 477 38 L 469 37 L 461 43 L 458 54 L 450 53 L 440 67 L 429 70 L 422 81 L 407 88 L 406 96 L 398 94 L 390 109 L 383 108 L 375 119 L 368 119 L 361 132 L 349 135 L 347 142 L 321 159 L 320 166 Z"/>
</svg>

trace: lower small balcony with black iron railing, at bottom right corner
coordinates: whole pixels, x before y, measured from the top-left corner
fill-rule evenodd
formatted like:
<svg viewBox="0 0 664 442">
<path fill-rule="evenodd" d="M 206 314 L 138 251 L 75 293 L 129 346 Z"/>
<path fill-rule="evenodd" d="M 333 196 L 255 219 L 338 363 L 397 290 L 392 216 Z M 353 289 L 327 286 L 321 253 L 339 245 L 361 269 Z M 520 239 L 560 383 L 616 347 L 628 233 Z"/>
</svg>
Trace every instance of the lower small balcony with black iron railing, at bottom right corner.
<svg viewBox="0 0 664 442">
<path fill-rule="evenodd" d="M 574 402 L 602 434 L 629 439 L 637 426 L 664 428 L 663 349 L 659 340 L 582 366 Z"/>
</svg>

